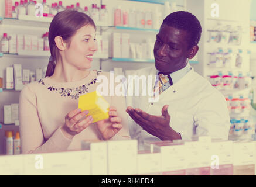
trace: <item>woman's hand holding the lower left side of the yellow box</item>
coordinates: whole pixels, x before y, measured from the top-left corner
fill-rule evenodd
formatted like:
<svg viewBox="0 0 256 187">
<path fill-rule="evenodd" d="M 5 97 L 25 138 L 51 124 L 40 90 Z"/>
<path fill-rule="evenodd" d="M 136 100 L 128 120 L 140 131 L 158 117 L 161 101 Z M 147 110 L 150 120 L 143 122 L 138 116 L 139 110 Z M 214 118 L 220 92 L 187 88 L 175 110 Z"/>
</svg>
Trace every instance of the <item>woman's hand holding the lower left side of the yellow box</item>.
<svg viewBox="0 0 256 187">
<path fill-rule="evenodd" d="M 86 129 L 91 122 L 93 122 L 92 116 L 85 117 L 87 114 L 87 110 L 81 112 L 81 109 L 72 110 L 71 112 L 67 113 L 65 116 L 65 124 L 61 128 L 63 134 L 67 138 L 71 139 L 74 137 L 74 135 L 79 134 L 81 131 Z"/>
</svg>

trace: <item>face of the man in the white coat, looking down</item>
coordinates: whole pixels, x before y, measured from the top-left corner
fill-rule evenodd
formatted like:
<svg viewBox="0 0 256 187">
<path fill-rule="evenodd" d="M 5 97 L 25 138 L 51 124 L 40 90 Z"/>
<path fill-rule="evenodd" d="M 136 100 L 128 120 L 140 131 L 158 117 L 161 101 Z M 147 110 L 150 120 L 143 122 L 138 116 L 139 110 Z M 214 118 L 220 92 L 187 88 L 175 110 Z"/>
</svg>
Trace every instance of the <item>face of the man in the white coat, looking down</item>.
<svg viewBox="0 0 256 187">
<path fill-rule="evenodd" d="M 188 37 L 185 30 L 162 24 L 154 47 L 155 67 L 158 71 L 172 73 L 187 65 Z"/>
</svg>

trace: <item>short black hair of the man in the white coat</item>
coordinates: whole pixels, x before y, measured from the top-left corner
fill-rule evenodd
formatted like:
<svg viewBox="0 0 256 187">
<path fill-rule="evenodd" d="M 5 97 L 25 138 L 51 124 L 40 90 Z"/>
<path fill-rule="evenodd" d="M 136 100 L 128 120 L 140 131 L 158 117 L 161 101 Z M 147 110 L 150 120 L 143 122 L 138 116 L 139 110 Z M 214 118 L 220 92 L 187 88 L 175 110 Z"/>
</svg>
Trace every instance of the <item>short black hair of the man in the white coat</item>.
<svg viewBox="0 0 256 187">
<path fill-rule="evenodd" d="M 189 48 L 196 46 L 199 43 L 202 33 L 202 27 L 199 20 L 192 13 L 185 11 L 170 13 L 163 20 L 162 24 L 174 27 L 176 29 L 182 29 L 189 33 Z"/>
</svg>

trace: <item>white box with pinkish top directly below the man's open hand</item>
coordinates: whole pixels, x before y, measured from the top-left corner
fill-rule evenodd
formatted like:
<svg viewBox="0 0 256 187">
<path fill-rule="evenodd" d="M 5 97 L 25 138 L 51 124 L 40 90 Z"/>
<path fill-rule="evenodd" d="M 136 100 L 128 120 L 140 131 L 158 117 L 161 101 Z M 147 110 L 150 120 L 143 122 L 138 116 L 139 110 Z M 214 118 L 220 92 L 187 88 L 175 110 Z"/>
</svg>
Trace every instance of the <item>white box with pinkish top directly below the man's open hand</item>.
<svg viewBox="0 0 256 187">
<path fill-rule="evenodd" d="M 184 144 L 163 142 L 155 144 L 155 150 L 161 151 L 162 175 L 186 174 L 186 148 Z"/>
</svg>

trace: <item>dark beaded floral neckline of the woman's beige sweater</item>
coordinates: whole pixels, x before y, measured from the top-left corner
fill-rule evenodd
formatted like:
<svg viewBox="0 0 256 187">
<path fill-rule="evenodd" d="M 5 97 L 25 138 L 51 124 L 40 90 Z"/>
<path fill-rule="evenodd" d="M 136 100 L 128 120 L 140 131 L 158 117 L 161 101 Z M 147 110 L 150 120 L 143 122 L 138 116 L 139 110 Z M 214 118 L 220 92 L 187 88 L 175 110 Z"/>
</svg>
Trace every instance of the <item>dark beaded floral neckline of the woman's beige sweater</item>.
<svg viewBox="0 0 256 187">
<path fill-rule="evenodd" d="M 49 91 L 55 91 L 55 92 L 59 92 L 60 96 L 64 96 L 64 97 L 71 97 L 72 99 L 77 99 L 79 98 L 80 95 L 88 92 L 89 86 L 92 84 L 95 84 L 97 81 L 97 76 L 100 75 L 101 71 L 96 71 L 97 75 L 95 76 L 94 79 L 91 79 L 91 81 L 87 84 L 83 84 L 81 86 L 78 86 L 76 88 L 56 88 L 54 86 L 50 86 L 45 84 L 45 82 L 40 79 L 38 82 L 39 84 L 45 85 L 47 86 L 47 89 Z"/>
</svg>

